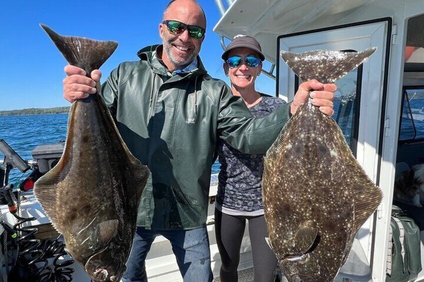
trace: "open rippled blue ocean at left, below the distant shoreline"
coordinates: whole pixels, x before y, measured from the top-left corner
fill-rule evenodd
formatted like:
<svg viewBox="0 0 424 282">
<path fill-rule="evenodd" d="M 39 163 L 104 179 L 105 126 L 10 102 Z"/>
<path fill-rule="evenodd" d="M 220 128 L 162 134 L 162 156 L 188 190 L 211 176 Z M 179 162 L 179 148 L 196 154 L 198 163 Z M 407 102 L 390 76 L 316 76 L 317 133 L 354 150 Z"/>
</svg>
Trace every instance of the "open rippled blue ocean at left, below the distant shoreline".
<svg viewBox="0 0 424 282">
<path fill-rule="evenodd" d="M 20 116 L 0 116 L 0 139 L 16 151 L 24 160 L 31 160 L 32 150 L 41 144 L 57 143 L 66 139 L 67 113 L 39 114 Z M 4 156 L 0 152 L 0 160 Z M 212 166 L 212 173 L 217 173 L 219 163 Z M 13 169 L 9 175 L 9 184 L 25 179 L 30 171 L 22 174 Z"/>
</svg>

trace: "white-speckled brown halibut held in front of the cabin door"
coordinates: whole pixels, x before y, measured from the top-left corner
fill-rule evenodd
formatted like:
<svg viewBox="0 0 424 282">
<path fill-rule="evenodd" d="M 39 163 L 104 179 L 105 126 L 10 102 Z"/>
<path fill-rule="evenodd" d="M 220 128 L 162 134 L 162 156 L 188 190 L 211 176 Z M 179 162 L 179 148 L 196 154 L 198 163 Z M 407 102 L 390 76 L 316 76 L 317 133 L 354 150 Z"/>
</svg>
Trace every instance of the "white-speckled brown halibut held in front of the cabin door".
<svg viewBox="0 0 424 282">
<path fill-rule="evenodd" d="M 374 51 L 281 56 L 303 81 L 333 83 Z M 268 242 L 289 282 L 333 281 L 356 232 L 382 199 L 337 123 L 310 98 L 267 151 L 262 193 Z"/>
</svg>

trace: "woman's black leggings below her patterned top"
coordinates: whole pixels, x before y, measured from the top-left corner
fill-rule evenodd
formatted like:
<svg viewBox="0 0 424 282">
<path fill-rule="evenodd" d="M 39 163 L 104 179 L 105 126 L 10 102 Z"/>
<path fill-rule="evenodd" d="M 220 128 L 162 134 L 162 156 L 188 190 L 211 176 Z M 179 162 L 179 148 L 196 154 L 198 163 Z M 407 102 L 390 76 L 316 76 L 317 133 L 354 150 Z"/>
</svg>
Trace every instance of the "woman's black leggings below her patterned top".
<svg viewBox="0 0 424 282">
<path fill-rule="evenodd" d="M 237 282 L 240 246 L 246 220 L 249 221 L 250 244 L 253 257 L 254 282 L 273 282 L 277 259 L 266 244 L 265 217 L 230 216 L 215 209 L 215 235 L 222 265 L 221 282 Z"/>
</svg>

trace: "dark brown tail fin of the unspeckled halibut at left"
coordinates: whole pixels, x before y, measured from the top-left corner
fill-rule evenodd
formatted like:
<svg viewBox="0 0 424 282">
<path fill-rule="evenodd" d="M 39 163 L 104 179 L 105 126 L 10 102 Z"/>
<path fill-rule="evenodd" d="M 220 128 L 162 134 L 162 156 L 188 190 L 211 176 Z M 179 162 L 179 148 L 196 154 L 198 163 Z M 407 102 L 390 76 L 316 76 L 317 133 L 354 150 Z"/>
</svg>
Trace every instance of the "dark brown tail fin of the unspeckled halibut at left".
<svg viewBox="0 0 424 282">
<path fill-rule="evenodd" d="M 40 24 L 70 65 L 82 68 L 87 76 L 100 66 L 116 49 L 115 41 L 99 41 L 84 37 L 62 36 Z"/>
</svg>

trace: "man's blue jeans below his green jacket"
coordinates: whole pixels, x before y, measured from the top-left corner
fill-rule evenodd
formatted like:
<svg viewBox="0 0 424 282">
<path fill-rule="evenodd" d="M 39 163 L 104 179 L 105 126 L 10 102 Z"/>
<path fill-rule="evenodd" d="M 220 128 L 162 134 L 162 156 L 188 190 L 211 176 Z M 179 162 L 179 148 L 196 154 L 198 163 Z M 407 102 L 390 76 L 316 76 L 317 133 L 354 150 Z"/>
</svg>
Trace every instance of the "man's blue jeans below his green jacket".
<svg viewBox="0 0 424 282">
<path fill-rule="evenodd" d="M 168 239 L 184 282 L 211 282 L 206 227 L 193 230 L 147 230 L 137 227 L 122 282 L 147 282 L 145 258 L 156 236 Z"/>
</svg>

